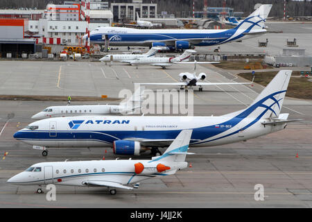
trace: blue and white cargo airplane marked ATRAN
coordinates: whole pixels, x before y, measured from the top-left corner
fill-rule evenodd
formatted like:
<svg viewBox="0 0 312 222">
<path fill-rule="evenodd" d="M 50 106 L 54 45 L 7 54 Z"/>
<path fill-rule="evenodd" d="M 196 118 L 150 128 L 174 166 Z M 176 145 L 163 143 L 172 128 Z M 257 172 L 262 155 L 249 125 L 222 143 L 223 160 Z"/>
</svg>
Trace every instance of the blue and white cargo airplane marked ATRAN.
<svg viewBox="0 0 312 222">
<path fill-rule="evenodd" d="M 232 144 L 283 130 L 288 121 L 295 121 L 280 114 L 291 73 L 279 71 L 248 108 L 220 117 L 57 117 L 35 121 L 14 138 L 43 150 L 43 155 L 49 147 L 104 146 L 113 146 L 116 154 L 155 154 L 185 129 L 193 129 L 190 146 Z"/>
</svg>

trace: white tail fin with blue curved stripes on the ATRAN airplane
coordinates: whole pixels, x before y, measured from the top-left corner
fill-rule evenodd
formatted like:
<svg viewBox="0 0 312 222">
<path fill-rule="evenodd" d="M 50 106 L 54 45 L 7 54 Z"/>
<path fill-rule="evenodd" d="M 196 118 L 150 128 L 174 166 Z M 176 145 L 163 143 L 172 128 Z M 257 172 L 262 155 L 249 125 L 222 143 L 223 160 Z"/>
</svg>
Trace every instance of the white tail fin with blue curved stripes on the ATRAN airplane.
<svg viewBox="0 0 312 222">
<path fill-rule="evenodd" d="M 225 116 L 242 119 L 245 117 L 278 118 L 292 72 L 291 70 L 279 71 L 248 108 Z"/>
</svg>

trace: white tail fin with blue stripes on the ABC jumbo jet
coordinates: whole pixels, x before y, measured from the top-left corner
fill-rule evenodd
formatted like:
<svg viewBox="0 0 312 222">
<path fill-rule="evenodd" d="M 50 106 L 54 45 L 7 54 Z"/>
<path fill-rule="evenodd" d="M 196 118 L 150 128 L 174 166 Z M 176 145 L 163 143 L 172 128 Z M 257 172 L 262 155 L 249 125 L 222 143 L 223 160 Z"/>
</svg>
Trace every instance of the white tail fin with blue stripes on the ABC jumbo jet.
<svg viewBox="0 0 312 222">
<path fill-rule="evenodd" d="M 252 31 L 262 30 L 265 27 L 266 18 L 268 17 L 271 8 L 272 5 L 270 4 L 261 5 L 234 29 L 243 29 L 244 33 L 252 33 Z"/>
</svg>

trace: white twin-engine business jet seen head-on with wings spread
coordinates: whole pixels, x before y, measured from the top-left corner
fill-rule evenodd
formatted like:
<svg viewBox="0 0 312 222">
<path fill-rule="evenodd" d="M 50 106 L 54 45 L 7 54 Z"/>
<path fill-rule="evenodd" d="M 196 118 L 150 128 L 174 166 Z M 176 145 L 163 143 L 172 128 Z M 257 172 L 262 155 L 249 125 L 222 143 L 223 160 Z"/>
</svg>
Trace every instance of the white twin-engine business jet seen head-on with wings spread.
<svg viewBox="0 0 312 222">
<path fill-rule="evenodd" d="M 198 82 L 199 80 L 205 80 L 206 74 L 200 73 L 196 76 L 195 73 L 191 74 L 189 72 L 182 72 L 179 74 L 180 83 L 135 83 L 137 85 L 176 85 L 180 86 L 180 89 L 191 89 L 193 86 L 199 86 L 199 91 L 202 92 L 202 86 L 204 85 L 245 85 L 245 84 L 252 84 L 254 82 L 254 77 L 252 78 L 252 82 L 250 83 L 201 83 Z"/>
</svg>

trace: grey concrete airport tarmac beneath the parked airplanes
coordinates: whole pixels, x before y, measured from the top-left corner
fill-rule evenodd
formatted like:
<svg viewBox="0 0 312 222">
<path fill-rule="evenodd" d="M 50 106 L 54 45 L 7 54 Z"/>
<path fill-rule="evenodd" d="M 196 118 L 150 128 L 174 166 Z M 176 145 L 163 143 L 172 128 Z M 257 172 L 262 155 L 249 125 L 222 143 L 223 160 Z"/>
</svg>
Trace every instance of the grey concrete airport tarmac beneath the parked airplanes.
<svg viewBox="0 0 312 222">
<path fill-rule="evenodd" d="M 118 96 L 121 89 L 131 89 L 132 83 L 176 82 L 181 71 L 193 69 L 190 65 L 135 69 L 100 62 L 1 61 L 0 65 L 0 94 L 71 94 L 72 104 L 78 104 L 74 101 L 78 95 Z M 245 81 L 209 66 L 198 65 L 196 70 L 208 74 L 209 82 Z M 262 88 L 254 84 L 211 86 L 204 92 L 196 89 L 194 114 L 220 115 L 243 109 Z M 192 167 L 174 176 L 146 180 L 139 189 L 118 190 L 115 196 L 106 188 L 57 187 L 56 201 L 35 194 L 36 186 L 10 185 L 6 180 L 36 162 L 101 160 L 103 156 L 112 160 L 116 155 L 111 149 L 105 153 L 105 148 L 51 148 L 49 155 L 42 157 L 40 151 L 12 138 L 33 121 L 33 114 L 49 105 L 64 102 L 0 101 L 0 153 L 8 152 L 5 160 L 0 160 L 0 207 L 312 207 L 312 101 L 284 101 L 282 112 L 289 112 L 290 119 L 304 119 L 289 123 L 285 130 L 247 142 L 191 148 L 196 153 L 187 157 Z M 263 201 L 254 200 L 257 184 L 264 187 Z"/>
</svg>

